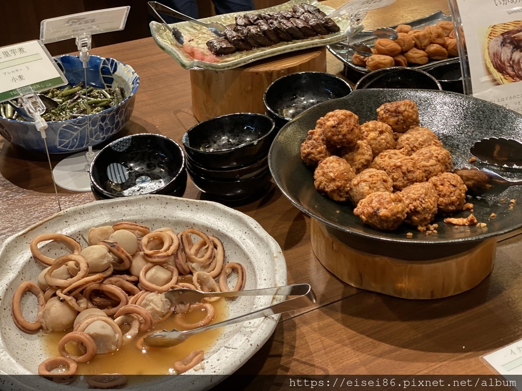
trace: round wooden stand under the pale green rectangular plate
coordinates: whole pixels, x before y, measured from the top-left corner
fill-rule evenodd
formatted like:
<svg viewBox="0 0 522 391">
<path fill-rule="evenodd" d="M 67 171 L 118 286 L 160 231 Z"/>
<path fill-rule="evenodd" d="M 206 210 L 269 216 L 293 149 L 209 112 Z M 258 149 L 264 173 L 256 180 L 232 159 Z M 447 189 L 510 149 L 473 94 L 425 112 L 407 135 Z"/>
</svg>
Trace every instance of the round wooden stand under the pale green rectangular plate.
<svg viewBox="0 0 522 391">
<path fill-rule="evenodd" d="M 191 70 L 192 111 L 198 121 L 232 113 L 265 113 L 263 93 L 281 76 L 326 72 L 326 47 L 282 54 L 229 70 Z"/>
</svg>

